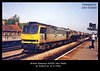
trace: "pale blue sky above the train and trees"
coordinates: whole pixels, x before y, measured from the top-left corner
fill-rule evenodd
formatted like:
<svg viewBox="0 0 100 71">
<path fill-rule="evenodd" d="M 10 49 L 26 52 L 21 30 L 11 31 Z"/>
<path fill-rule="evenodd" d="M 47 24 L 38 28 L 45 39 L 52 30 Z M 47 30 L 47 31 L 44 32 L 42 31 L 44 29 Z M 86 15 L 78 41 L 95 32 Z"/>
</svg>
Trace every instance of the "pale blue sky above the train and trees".
<svg viewBox="0 0 100 71">
<path fill-rule="evenodd" d="M 2 19 L 15 14 L 20 23 L 37 21 L 86 33 L 96 33 L 87 30 L 89 23 L 98 27 L 98 2 L 2 2 Z"/>
</svg>

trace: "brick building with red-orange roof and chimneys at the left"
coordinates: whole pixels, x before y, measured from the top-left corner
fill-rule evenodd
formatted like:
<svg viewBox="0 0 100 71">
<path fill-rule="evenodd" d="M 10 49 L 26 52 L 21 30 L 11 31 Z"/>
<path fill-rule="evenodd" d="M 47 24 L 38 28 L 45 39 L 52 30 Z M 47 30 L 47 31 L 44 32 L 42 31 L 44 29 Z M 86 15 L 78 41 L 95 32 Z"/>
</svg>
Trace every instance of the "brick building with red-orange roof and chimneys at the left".
<svg viewBox="0 0 100 71">
<path fill-rule="evenodd" d="M 16 22 L 15 25 L 10 25 L 5 24 L 5 21 L 2 21 L 2 39 L 20 39 L 21 31 L 18 22 Z"/>
</svg>

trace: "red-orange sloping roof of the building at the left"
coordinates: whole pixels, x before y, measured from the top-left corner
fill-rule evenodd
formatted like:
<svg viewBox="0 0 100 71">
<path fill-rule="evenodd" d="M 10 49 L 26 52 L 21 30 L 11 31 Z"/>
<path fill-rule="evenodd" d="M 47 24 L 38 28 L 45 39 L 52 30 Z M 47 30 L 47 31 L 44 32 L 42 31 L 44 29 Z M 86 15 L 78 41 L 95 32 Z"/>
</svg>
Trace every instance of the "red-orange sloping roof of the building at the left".
<svg viewBox="0 0 100 71">
<path fill-rule="evenodd" d="M 9 24 L 6 24 L 6 25 L 2 25 L 2 31 L 6 32 L 6 31 L 9 31 L 9 32 L 21 32 L 22 30 L 19 28 L 18 25 L 9 25 Z"/>
</svg>

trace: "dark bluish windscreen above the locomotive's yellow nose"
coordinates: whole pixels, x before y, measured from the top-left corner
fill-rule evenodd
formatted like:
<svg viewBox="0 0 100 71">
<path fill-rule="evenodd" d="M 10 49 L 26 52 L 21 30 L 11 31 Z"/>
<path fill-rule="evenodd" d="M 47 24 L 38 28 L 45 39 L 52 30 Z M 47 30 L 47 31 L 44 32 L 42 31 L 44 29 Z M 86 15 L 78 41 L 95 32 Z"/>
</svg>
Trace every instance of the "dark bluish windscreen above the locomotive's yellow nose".
<svg viewBox="0 0 100 71">
<path fill-rule="evenodd" d="M 23 27 L 23 34 L 37 34 L 38 33 L 38 25 L 34 26 L 24 26 Z"/>
</svg>

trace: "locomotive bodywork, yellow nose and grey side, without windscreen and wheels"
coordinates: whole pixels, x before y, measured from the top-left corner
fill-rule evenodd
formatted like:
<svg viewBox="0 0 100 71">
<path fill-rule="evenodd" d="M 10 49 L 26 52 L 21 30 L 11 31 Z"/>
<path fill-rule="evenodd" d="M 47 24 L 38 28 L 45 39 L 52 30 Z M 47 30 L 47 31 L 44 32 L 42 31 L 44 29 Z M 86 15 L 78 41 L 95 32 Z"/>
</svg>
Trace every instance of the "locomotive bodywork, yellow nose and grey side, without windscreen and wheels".
<svg viewBox="0 0 100 71">
<path fill-rule="evenodd" d="M 35 24 L 34 24 L 35 25 Z M 33 25 L 24 25 L 25 26 L 33 26 Z M 65 31 L 64 29 L 59 29 L 58 27 L 51 27 L 47 25 L 36 25 L 38 26 L 38 29 L 35 30 L 37 33 L 22 33 L 21 34 L 21 43 L 48 43 L 48 42 L 55 42 L 55 41 L 61 41 L 66 40 L 67 38 L 70 38 L 70 32 Z M 25 28 L 23 29 L 23 31 Z"/>
</svg>

